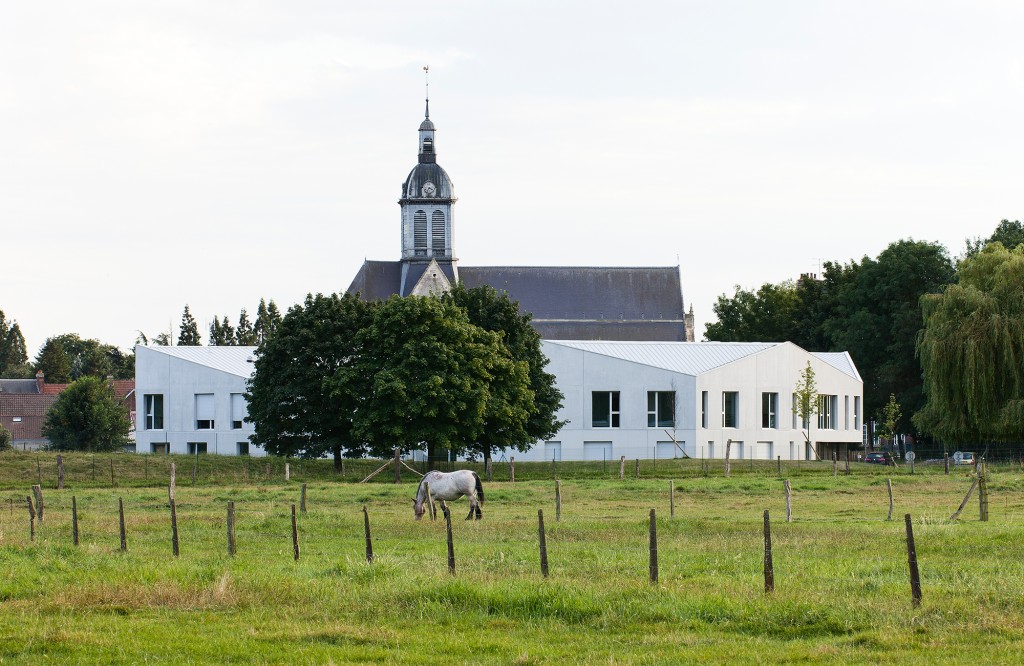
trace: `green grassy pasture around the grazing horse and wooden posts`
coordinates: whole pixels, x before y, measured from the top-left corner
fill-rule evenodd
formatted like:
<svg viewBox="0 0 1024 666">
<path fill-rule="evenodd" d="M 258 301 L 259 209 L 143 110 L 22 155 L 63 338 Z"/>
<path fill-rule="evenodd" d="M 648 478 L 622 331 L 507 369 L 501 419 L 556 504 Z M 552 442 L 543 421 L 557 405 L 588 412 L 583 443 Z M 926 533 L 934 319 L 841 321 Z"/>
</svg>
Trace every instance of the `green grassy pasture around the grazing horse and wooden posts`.
<svg viewBox="0 0 1024 666">
<path fill-rule="evenodd" d="M 483 521 L 453 506 L 456 574 L 443 521 L 413 519 L 403 483 L 356 484 L 380 463 L 178 459 L 180 555 L 171 551 L 166 459 L 0 456 L 0 663 L 1019 663 L 1024 655 L 1024 473 L 989 469 L 987 523 L 970 470 L 913 475 L 854 465 L 786 465 L 785 522 L 774 464 L 706 477 L 696 461 L 496 467 Z M 38 464 L 37 464 L 38 463 Z M 146 469 L 142 466 L 146 465 Z M 361 466 L 360 466 L 361 465 Z M 105 474 L 103 473 L 105 471 Z M 43 475 L 45 518 L 30 541 L 26 495 Z M 365 472 L 365 473 L 364 473 Z M 633 464 L 627 465 L 627 475 Z M 503 475 L 504 474 L 504 475 Z M 886 519 L 891 477 L 895 514 Z M 390 475 L 387 476 L 391 478 Z M 502 478 L 502 481 L 499 481 Z M 522 481 L 527 480 L 527 481 Z M 669 480 L 675 517 L 669 513 Z M 300 557 L 292 551 L 291 506 Z M 75 497 L 81 544 L 72 543 Z M 120 551 L 118 499 L 128 550 Z M 238 553 L 226 551 L 236 503 Z M 373 530 L 366 561 L 362 507 Z M 659 580 L 648 581 L 657 511 Z M 550 577 L 541 576 L 538 509 Z M 772 516 L 775 592 L 764 593 L 763 511 Z M 910 602 L 903 514 L 913 518 L 924 600 Z"/>
</svg>

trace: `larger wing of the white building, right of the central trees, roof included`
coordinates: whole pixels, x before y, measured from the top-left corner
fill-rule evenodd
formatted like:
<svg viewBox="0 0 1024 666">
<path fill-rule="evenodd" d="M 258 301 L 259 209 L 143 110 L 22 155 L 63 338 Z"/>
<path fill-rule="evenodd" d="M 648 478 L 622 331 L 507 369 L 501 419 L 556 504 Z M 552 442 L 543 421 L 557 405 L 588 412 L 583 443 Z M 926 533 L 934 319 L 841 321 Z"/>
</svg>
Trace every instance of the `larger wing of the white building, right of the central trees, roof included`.
<svg viewBox="0 0 1024 666">
<path fill-rule="evenodd" d="M 565 396 L 558 418 L 568 423 L 549 442 L 506 457 L 724 458 L 731 441 L 733 460 L 809 460 L 861 442 L 863 382 L 846 352 L 809 352 L 791 342 L 543 345 L 547 370 Z M 811 419 L 810 449 L 793 416 L 794 389 L 808 362 L 826 406 L 824 418 Z"/>
</svg>

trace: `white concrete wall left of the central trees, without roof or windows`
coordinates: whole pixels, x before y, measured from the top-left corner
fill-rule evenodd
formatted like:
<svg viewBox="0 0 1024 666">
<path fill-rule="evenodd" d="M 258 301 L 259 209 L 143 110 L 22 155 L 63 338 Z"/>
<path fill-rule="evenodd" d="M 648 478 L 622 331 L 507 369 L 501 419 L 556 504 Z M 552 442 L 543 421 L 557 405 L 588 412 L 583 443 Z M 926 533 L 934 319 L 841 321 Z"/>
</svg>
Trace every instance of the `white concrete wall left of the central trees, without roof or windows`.
<svg viewBox="0 0 1024 666">
<path fill-rule="evenodd" d="M 154 443 L 170 444 L 171 453 L 188 453 L 189 442 L 205 442 L 207 453 L 236 455 L 238 443 L 248 442 L 252 423 L 231 427 L 231 393 L 244 393 L 243 377 L 183 361 L 146 347 L 135 351 L 136 446 L 151 453 Z M 164 428 L 145 428 L 145 396 L 164 396 Z M 213 393 L 214 429 L 196 429 L 196 394 Z M 264 456 L 262 447 L 249 445 L 249 455 Z"/>
</svg>

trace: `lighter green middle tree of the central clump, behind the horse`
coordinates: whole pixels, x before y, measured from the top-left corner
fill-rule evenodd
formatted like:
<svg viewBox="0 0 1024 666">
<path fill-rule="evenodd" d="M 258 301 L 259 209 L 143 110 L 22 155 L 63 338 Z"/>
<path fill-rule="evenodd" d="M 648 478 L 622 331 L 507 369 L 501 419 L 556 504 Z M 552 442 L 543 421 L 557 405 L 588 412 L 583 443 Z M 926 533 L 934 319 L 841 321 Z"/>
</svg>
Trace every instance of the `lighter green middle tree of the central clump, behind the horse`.
<svg viewBox="0 0 1024 666">
<path fill-rule="evenodd" d="M 355 367 L 332 383 L 345 391 L 351 382 L 370 379 L 354 426 L 375 453 L 425 444 L 434 461 L 444 451 L 459 454 L 479 442 L 488 417 L 498 419 L 495 410 L 510 411 L 501 417 L 504 427 L 525 428 L 528 410 L 515 394 L 529 391 L 528 371 L 501 338 L 474 326 L 451 300 L 395 296 L 377 306 L 359 333 L 362 352 Z"/>
</svg>

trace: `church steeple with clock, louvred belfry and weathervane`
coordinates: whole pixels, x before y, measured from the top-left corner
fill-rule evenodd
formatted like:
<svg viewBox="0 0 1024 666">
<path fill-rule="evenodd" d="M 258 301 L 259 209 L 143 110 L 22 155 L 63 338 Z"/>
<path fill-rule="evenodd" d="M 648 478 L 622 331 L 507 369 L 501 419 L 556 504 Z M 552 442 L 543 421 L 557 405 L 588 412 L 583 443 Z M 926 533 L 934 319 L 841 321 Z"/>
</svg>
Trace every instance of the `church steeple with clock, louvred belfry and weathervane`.
<svg viewBox="0 0 1024 666">
<path fill-rule="evenodd" d="M 423 68 L 426 75 L 429 68 Z M 455 198 L 452 179 L 437 164 L 434 123 L 430 120 L 430 87 L 427 83 L 426 106 L 419 129 L 419 159 L 401 185 L 401 258 L 402 261 L 451 262 L 452 204 Z M 454 266 L 453 266 L 454 269 Z"/>
</svg>

